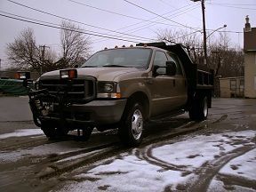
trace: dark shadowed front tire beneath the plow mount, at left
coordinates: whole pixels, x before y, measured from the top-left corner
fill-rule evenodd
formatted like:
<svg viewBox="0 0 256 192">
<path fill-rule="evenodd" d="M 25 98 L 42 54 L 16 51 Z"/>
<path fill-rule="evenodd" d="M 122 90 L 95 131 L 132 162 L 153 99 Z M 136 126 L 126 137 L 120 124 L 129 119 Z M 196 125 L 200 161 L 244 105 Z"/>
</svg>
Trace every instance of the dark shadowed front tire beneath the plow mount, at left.
<svg viewBox="0 0 256 192">
<path fill-rule="evenodd" d="M 52 127 L 51 124 L 42 123 L 41 129 L 49 139 L 57 139 L 68 134 L 68 129 Z"/>
</svg>

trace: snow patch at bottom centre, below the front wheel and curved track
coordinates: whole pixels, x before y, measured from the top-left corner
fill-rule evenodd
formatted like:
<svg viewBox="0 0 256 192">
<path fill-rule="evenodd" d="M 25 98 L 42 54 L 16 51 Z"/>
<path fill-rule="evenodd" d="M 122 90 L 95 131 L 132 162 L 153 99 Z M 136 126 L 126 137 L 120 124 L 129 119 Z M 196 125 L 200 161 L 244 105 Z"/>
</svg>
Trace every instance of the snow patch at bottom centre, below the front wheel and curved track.
<svg viewBox="0 0 256 192">
<path fill-rule="evenodd" d="M 62 191 L 163 191 L 168 184 L 187 179 L 182 177 L 181 172 L 163 172 L 161 167 L 148 164 L 136 156 L 124 156 L 76 176 L 78 180 L 83 178 L 84 182 L 66 186 Z"/>
</svg>

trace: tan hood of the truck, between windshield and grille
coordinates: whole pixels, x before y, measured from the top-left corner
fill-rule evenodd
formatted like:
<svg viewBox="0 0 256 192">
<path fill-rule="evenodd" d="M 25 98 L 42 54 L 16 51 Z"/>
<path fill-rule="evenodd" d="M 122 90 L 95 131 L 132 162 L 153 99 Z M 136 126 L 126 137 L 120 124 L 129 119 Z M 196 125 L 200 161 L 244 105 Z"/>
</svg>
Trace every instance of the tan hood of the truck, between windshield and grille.
<svg viewBox="0 0 256 192">
<path fill-rule="evenodd" d="M 93 76 L 98 81 L 114 81 L 117 76 L 132 72 L 140 72 L 142 68 L 76 68 L 78 76 Z M 45 73 L 42 77 L 60 76 L 60 70 Z"/>
</svg>

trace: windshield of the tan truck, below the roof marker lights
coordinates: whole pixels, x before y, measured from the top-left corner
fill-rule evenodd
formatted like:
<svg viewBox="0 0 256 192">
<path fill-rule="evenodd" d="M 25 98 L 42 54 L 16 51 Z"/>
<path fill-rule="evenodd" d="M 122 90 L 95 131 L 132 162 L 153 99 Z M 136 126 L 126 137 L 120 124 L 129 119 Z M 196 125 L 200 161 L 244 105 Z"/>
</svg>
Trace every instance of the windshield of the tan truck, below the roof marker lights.
<svg viewBox="0 0 256 192">
<path fill-rule="evenodd" d="M 82 65 L 82 68 L 124 67 L 148 68 L 151 49 L 113 49 L 96 52 Z"/>
</svg>

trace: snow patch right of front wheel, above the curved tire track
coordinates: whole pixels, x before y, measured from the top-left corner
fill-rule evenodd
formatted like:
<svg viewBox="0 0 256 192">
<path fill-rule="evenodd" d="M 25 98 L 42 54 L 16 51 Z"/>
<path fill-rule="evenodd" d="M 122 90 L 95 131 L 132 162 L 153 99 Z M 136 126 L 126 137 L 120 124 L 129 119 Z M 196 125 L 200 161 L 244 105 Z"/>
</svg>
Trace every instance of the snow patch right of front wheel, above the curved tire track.
<svg viewBox="0 0 256 192">
<path fill-rule="evenodd" d="M 154 148 L 152 153 L 153 156 L 164 162 L 170 162 L 170 156 L 172 156 L 172 164 L 195 168 L 214 159 L 214 156 L 221 155 L 220 153 L 227 153 L 235 148 L 242 147 L 243 144 L 237 142 L 237 137 L 239 137 L 239 140 L 250 140 L 254 134 L 246 131 L 212 134 L 210 136 L 200 135 L 192 140 L 182 140 L 172 145 Z"/>
</svg>

